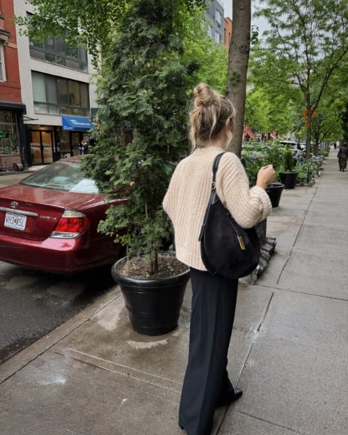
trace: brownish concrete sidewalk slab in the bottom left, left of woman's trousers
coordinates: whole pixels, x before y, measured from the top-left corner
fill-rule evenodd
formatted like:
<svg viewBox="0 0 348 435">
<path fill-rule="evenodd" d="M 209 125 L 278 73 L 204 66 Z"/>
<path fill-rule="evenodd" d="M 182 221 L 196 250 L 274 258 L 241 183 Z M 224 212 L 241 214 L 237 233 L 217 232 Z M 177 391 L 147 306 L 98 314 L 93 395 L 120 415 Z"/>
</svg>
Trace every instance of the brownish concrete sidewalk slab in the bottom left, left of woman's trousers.
<svg viewBox="0 0 348 435">
<path fill-rule="evenodd" d="M 1 435 L 182 433 L 177 393 L 53 351 L 6 382 L 6 402 Z"/>
</svg>

